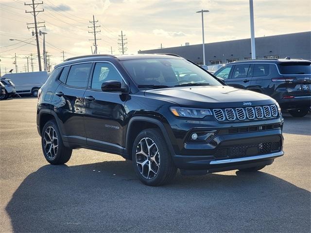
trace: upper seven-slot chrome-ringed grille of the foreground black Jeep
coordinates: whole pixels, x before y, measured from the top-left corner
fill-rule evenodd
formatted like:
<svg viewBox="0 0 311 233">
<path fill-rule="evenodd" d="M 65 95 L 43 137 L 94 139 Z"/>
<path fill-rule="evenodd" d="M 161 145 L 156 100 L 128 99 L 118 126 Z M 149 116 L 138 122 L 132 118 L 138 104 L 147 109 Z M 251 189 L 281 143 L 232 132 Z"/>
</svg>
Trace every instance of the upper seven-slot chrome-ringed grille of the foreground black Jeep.
<svg viewBox="0 0 311 233">
<path fill-rule="evenodd" d="M 277 117 L 278 111 L 275 104 L 266 106 L 246 108 L 213 109 L 215 118 L 218 121 L 235 120 L 259 120 L 264 118 Z"/>
</svg>

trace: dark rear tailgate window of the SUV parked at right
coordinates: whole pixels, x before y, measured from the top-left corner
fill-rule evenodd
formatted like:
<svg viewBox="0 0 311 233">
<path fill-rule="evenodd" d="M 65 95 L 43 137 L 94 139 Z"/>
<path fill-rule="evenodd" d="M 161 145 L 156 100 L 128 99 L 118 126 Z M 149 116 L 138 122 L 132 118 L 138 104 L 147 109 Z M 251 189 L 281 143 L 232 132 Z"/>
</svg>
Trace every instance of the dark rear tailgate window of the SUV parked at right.
<svg viewBox="0 0 311 233">
<path fill-rule="evenodd" d="M 311 74 L 311 62 L 284 62 L 278 68 L 281 74 Z"/>
</svg>

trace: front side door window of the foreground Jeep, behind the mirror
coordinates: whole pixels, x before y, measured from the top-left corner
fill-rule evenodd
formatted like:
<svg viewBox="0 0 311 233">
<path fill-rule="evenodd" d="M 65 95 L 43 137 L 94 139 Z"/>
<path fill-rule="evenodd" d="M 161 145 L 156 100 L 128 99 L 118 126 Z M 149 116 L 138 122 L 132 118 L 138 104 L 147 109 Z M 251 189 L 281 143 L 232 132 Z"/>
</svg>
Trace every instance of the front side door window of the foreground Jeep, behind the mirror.
<svg viewBox="0 0 311 233">
<path fill-rule="evenodd" d="M 110 63 L 96 63 L 91 88 L 101 90 L 102 83 L 112 80 L 122 82 L 122 77 L 116 68 Z"/>
</svg>

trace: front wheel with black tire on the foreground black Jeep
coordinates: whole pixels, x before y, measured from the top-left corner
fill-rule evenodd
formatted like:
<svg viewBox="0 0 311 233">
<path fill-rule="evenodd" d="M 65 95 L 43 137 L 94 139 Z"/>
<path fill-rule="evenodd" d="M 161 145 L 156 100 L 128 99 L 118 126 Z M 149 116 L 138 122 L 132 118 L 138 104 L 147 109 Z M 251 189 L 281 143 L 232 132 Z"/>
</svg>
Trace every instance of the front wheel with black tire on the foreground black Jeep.
<svg viewBox="0 0 311 233">
<path fill-rule="evenodd" d="M 155 143 L 155 145 L 151 146 L 153 143 Z M 148 144 L 150 146 L 149 150 L 146 147 Z M 142 150 L 149 156 L 145 156 L 141 153 L 136 155 L 137 151 Z M 150 153 L 148 153 L 148 151 L 150 151 Z M 143 162 L 146 163 L 142 166 L 138 164 L 138 162 L 142 162 L 142 164 Z M 173 164 L 171 153 L 167 148 L 166 141 L 158 129 L 147 129 L 138 134 L 133 143 L 132 164 L 139 180 L 150 186 L 160 186 L 171 182 L 177 171 L 176 166 Z M 152 170 L 156 171 L 156 174 L 149 169 L 149 164 Z M 147 169 L 146 165 L 148 166 L 148 175 L 145 173 L 145 169 Z M 142 167 L 145 169 L 142 169 Z"/>
</svg>

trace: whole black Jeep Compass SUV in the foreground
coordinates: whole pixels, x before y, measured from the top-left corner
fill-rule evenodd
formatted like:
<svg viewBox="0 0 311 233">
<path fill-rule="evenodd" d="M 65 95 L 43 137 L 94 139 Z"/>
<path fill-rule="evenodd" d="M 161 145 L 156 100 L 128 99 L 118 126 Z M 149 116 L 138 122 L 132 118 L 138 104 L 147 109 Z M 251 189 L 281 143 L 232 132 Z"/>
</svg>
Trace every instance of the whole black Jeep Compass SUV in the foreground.
<svg viewBox="0 0 311 233">
<path fill-rule="evenodd" d="M 38 94 L 50 164 L 87 148 L 133 161 L 147 185 L 182 174 L 257 171 L 283 155 L 272 98 L 225 85 L 177 55 L 89 55 L 57 65 Z"/>
</svg>

